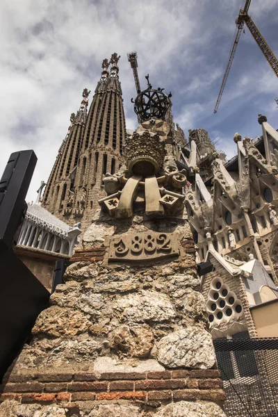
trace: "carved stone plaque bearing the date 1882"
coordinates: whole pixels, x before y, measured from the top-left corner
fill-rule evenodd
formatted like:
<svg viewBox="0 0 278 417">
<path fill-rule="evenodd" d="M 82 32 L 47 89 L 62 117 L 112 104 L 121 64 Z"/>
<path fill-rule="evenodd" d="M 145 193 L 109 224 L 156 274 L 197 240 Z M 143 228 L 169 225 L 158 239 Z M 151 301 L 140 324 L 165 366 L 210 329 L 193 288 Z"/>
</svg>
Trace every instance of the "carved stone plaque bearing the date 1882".
<svg viewBox="0 0 278 417">
<path fill-rule="evenodd" d="M 178 254 L 172 234 L 149 231 L 111 238 L 108 261 L 144 261 Z"/>
</svg>

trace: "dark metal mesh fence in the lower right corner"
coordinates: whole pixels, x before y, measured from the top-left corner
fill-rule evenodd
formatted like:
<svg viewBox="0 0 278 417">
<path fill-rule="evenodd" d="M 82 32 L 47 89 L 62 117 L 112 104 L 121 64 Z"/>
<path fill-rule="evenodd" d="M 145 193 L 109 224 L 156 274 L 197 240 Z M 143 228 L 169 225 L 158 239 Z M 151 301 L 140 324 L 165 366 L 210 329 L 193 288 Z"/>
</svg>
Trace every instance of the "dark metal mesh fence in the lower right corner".
<svg viewBox="0 0 278 417">
<path fill-rule="evenodd" d="M 213 341 L 227 417 L 278 416 L 278 338 Z"/>
</svg>

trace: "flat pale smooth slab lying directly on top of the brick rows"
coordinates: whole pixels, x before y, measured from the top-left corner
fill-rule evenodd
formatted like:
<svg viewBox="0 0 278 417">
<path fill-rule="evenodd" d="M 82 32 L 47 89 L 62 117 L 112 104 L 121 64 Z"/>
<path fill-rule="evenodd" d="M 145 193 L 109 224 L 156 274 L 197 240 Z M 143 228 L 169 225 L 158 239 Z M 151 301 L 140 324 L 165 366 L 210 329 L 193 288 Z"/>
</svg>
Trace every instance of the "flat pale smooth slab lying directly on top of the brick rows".
<svg viewBox="0 0 278 417">
<path fill-rule="evenodd" d="M 165 370 L 155 359 L 126 359 L 125 361 L 116 361 L 111 357 L 98 357 L 95 361 L 95 373 L 134 373 L 147 372 L 152 370 Z"/>
</svg>

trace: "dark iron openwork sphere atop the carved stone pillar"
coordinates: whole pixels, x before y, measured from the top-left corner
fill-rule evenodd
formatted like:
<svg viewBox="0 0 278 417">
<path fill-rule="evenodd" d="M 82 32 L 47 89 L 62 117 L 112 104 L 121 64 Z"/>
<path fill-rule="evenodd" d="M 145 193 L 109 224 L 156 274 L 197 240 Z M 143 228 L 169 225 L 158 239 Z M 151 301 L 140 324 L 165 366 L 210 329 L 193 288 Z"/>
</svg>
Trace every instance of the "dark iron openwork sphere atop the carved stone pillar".
<svg viewBox="0 0 278 417">
<path fill-rule="evenodd" d="M 141 122 L 149 119 L 165 120 L 170 99 L 160 89 L 147 88 L 138 94 L 134 102 L 134 111 Z"/>
</svg>

